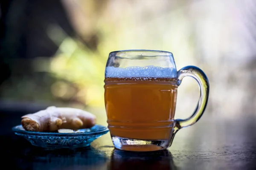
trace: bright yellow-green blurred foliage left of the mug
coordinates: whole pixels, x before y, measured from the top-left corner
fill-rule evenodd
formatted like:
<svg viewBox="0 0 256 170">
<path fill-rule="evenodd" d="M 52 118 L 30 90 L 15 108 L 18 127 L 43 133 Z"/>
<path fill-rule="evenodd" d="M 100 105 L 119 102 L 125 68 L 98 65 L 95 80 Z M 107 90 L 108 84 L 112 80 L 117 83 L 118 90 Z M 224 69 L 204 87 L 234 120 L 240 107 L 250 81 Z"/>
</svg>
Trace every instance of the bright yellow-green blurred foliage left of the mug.
<svg viewBox="0 0 256 170">
<path fill-rule="evenodd" d="M 53 29 L 56 34 L 64 35 L 61 28 Z M 52 38 L 54 39 L 54 37 Z M 50 61 L 49 71 L 60 79 L 73 82 L 79 89 L 76 98 L 81 103 L 102 106 L 104 105 L 102 94 L 104 94 L 106 59 L 107 57 L 102 54 L 102 51 L 92 51 L 81 41 L 66 37 L 59 44 L 59 50 Z M 52 86 L 55 96 L 65 96 L 69 91 L 70 88 L 60 82 L 55 82 Z"/>
</svg>

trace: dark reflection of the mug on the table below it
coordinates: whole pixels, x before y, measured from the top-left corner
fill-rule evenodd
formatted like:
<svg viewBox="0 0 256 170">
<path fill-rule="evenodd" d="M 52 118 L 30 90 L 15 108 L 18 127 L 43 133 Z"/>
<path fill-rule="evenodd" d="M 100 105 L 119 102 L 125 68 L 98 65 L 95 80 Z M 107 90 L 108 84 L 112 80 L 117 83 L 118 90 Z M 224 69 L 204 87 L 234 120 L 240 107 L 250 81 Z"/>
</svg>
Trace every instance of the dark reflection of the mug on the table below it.
<svg viewBox="0 0 256 170">
<path fill-rule="evenodd" d="M 169 150 L 126 152 L 113 150 L 108 170 L 177 170 Z"/>
</svg>

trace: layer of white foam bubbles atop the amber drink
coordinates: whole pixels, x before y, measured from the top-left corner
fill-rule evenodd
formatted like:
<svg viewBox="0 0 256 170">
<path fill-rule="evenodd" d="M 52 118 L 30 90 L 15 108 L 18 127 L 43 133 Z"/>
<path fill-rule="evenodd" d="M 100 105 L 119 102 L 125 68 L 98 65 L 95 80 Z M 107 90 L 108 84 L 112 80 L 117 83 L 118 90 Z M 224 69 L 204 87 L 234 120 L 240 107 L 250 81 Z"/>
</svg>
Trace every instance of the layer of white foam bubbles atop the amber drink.
<svg viewBox="0 0 256 170">
<path fill-rule="evenodd" d="M 106 67 L 105 77 L 111 78 L 130 78 L 130 77 L 157 77 L 157 78 L 175 78 L 177 71 L 175 68 L 162 68 L 153 65 L 146 67 Z"/>
</svg>

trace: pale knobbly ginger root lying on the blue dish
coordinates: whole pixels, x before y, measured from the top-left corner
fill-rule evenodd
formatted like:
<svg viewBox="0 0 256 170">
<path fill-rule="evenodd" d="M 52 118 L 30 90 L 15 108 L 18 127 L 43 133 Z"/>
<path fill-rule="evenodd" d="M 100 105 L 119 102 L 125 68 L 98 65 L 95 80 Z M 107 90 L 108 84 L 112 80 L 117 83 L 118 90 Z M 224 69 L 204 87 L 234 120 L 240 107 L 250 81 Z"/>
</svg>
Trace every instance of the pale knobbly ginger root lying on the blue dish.
<svg viewBox="0 0 256 170">
<path fill-rule="evenodd" d="M 96 116 L 76 108 L 48 107 L 46 110 L 21 117 L 21 125 L 25 130 L 52 132 L 58 129 L 78 130 L 96 124 Z"/>
</svg>

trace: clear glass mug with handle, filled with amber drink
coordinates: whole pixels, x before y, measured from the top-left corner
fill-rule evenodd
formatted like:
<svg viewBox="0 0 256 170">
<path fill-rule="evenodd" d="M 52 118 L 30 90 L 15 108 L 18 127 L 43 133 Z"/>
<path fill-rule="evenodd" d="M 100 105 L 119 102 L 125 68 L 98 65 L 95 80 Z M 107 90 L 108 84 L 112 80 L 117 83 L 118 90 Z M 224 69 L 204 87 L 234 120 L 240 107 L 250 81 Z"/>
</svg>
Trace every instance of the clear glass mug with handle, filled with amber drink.
<svg viewBox="0 0 256 170">
<path fill-rule="evenodd" d="M 186 76 L 200 87 L 194 113 L 174 119 L 177 87 Z M 172 53 L 152 50 L 113 51 L 105 69 L 105 108 L 116 149 L 164 150 L 175 133 L 197 122 L 207 105 L 209 82 L 195 66 L 176 70 Z"/>
</svg>

